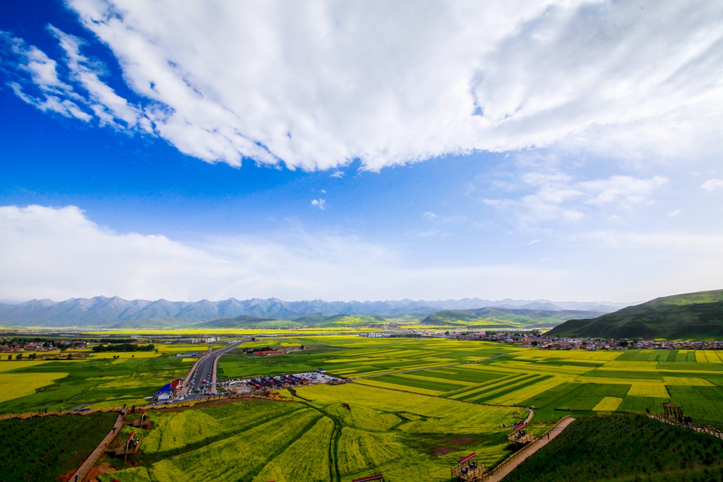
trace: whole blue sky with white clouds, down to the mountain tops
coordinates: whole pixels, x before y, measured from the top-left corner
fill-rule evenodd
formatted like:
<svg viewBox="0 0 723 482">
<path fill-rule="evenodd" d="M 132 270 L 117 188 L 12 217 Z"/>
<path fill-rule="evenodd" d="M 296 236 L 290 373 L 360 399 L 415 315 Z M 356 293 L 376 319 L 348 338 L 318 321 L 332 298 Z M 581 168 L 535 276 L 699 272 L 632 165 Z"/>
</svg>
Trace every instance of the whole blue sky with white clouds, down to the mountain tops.
<svg viewBox="0 0 723 482">
<path fill-rule="evenodd" d="M 1 7 L 0 301 L 722 288 L 719 2 L 174 5 Z"/>
</svg>

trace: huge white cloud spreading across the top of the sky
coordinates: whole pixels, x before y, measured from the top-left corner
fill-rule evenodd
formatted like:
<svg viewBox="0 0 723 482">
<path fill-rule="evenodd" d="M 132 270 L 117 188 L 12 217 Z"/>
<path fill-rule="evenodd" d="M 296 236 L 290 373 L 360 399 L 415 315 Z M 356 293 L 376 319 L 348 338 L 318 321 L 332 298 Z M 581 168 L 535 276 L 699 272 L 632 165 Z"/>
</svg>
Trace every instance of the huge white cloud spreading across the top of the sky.
<svg viewBox="0 0 723 482">
<path fill-rule="evenodd" d="M 651 159 L 720 147 L 709 121 L 723 111 L 715 0 L 67 4 L 140 105 L 54 28 L 64 58 L 32 46 L 16 55 L 25 82 L 56 85 L 54 103 L 31 103 L 64 115 L 74 115 L 65 100 L 85 105 L 209 162 L 311 170 L 359 159 L 376 170 L 474 150 Z"/>
</svg>

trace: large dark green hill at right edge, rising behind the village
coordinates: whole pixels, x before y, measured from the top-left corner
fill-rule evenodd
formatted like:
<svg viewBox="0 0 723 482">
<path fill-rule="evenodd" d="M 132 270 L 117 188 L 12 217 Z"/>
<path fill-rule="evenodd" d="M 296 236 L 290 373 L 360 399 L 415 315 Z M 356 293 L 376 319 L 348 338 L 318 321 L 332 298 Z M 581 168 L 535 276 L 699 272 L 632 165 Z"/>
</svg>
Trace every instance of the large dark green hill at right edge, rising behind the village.
<svg viewBox="0 0 723 482">
<path fill-rule="evenodd" d="M 549 332 L 565 337 L 721 338 L 723 290 L 655 298 L 594 319 L 571 319 Z"/>
</svg>

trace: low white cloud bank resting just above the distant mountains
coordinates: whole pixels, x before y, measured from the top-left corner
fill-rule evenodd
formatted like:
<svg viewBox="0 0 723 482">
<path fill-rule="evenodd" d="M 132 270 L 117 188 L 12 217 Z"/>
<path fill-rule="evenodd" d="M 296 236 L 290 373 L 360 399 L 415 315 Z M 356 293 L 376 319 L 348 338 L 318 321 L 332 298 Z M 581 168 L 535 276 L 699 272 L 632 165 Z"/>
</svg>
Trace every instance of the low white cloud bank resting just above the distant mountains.
<svg viewBox="0 0 723 482">
<path fill-rule="evenodd" d="M 354 235 L 294 228 L 184 244 L 114 233 L 74 206 L 0 207 L 4 301 L 121 296 L 171 300 L 277 296 L 288 300 L 499 297 L 550 287 L 565 270 L 520 265 L 406 267 L 402 254 Z"/>
</svg>

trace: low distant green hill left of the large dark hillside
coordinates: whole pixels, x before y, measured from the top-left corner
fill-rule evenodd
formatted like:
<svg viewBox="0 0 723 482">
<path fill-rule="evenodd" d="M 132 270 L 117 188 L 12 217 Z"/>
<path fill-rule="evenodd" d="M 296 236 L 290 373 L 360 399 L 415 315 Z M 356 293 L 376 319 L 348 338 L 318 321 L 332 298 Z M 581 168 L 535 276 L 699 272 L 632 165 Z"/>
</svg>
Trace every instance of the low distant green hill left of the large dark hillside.
<svg viewBox="0 0 723 482">
<path fill-rule="evenodd" d="M 442 310 L 423 319 L 420 324 L 437 327 L 465 328 L 549 328 L 573 318 L 596 317 L 596 311 L 510 308 Z"/>
</svg>

